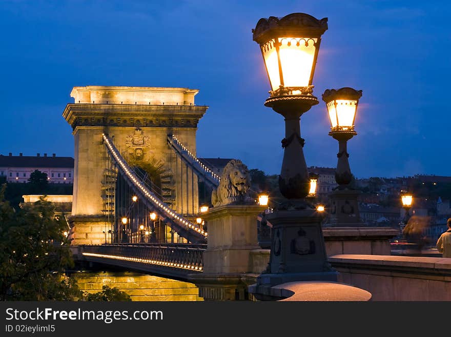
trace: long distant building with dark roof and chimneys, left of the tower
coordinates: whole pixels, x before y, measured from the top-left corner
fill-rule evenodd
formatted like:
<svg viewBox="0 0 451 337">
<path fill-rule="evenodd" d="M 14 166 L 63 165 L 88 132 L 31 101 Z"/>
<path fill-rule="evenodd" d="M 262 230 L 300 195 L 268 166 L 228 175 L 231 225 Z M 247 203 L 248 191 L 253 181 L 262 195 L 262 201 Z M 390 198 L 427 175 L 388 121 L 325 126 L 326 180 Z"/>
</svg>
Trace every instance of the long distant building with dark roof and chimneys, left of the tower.
<svg viewBox="0 0 451 337">
<path fill-rule="evenodd" d="M 47 173 L 51 184 L 73 184 L 74 158 L 57 157 L 55 153 L 36 156 L 18 156 L 0 154 L 0 176 L 6 177 L 8 183 L 27 183 L 31 172 L 39 170 Z"/>
</svg>

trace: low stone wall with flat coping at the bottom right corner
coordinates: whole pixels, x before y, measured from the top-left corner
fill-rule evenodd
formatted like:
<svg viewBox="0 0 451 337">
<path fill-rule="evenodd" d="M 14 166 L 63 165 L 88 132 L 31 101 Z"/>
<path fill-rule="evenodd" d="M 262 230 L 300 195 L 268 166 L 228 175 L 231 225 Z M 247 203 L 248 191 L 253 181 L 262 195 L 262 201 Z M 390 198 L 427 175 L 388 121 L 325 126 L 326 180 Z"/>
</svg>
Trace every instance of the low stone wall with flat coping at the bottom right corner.
<svg viewBox="0 0 451 337">
<path fill-rule="evenodd" d="M 329 261 L 339 282 L 371 292 L 373 301 L 451 301 L 451 259 L 341 254 Z"/>
</svg>

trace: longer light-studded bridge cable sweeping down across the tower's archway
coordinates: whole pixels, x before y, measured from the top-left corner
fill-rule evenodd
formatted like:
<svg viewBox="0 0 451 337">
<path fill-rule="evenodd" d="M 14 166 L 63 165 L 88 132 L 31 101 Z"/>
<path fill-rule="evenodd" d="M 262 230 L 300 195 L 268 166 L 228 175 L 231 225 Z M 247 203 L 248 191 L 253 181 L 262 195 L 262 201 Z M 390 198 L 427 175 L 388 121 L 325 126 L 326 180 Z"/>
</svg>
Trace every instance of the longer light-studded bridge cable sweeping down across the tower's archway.
<svg viewBox="0 0 451 337">
<path fill-rule="evenodd" d="M 155 193 L 141 182 L 134 170 L 127 164 L 119 151 L 105 133 L 102 134 L 104 144 L 113 162 L 117 165 L 118 172 L 124 177 L 130 188 L 141 198 L 147 207 L 155 209 L 161 220 L 167 223 L 178 235 L 185 237 L 189 242 L 205 243 L 207 232 L 197 224 L 183 218 L 180 214 L 169 208 Z"/>
</svg>

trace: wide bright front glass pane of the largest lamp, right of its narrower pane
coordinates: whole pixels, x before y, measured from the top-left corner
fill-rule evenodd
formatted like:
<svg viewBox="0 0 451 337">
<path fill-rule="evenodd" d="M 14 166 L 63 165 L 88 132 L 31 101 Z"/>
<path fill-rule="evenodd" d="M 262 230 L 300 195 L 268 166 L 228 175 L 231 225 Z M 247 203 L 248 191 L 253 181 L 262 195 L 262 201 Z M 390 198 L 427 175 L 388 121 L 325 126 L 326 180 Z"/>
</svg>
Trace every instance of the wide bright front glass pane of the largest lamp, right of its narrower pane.
<svg viewBox="0 0 451 337">
<path fill-rule="evenodd" d="M 279 55 L 285 87 L 309 85 L 316 40 L 316 38 L 279 37 Z"/>
</svg>

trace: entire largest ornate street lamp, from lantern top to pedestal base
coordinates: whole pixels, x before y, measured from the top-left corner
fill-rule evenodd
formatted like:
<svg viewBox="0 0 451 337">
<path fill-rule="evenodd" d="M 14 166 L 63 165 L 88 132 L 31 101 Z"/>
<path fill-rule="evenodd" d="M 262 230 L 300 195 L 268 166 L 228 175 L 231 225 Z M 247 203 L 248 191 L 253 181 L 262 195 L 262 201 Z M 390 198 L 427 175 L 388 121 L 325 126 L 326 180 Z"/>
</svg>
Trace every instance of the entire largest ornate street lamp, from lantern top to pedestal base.
<svg viewBox="0 0 451 337">
<path fill-rule="evenodd" d="M 311 180 L 299 122 L 304 112 L 319 103 L 312 82 L 321 35 L 326 30 L 327 18 L 318 20 L 304 13 L 261 18 L 252 30 L 272 89 L 264 105 L 285 120 L 279 189 L 289 199 L 266 216 L 272 224 L 270 262 L 257 283 L 249 287 L 258 300 L 277 298 L 272 287 L 285 282 L 337 281 L 337 273 L 327 264 L 323 215 L 305 201 Z"/>
</svg>

